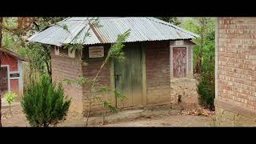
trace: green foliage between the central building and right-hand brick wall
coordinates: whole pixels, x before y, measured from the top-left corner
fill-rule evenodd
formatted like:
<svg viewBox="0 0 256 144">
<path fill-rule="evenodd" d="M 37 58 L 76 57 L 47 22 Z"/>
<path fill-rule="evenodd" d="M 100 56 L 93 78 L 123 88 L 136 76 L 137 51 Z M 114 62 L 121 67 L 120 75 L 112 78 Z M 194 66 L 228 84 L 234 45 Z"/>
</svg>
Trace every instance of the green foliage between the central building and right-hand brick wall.
<svg viewBox="0 0 256 144">
<path fill-rule="evenodd" d="M 186 18 L 182 27 L 198 35 L 194 39 L 194 72 L 201 74 L 198 84 L 199 102 L 202 106 L 214 110 L 214 54 L 215 21 L 214 18 Z"/>
</svg>

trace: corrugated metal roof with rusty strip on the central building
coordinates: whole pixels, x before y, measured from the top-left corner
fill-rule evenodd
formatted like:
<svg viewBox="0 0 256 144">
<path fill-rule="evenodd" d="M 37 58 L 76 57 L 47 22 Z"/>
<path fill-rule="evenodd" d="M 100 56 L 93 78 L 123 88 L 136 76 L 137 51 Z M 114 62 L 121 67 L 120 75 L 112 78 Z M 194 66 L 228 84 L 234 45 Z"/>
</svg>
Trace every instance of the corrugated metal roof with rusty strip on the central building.
<svg viewBox="0 0 256 144">
<path fill-rule="evenodd" d="M 98 25 L 91 27 L 89 22 L 98 19 Z M 68 30 L 64 30 L 63 26 Z M 152 17 L 75 17 L 66 18 L 46 30 L 42 30 L 31 36 L 30 42 L 40 42 L 50 45 L 62 46 L 67 43 L 83 43 L 84 45 L 98 43 L 113 43 L 117 40 L 118 34 L 130 30 L 130 36 L 126 42 L 162 41 L 192 39 L 197 34 L 174 26 Z M 86 33 L 90 36 L 85 38 Z"/>
</svg>

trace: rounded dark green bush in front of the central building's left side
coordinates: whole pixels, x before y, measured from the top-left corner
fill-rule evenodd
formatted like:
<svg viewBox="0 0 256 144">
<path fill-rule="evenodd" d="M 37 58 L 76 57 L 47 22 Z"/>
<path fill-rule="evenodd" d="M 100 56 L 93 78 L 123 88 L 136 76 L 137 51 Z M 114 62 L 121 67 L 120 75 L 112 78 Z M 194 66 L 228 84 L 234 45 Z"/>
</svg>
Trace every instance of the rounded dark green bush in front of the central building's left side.
<svg viewBox="0 0 256 144">
<path fill-rule="evenodd" d="M 70 99 L 64 96 L 62 84 L 56 86 L 43 75 L 39 82 L 32 81 L 22 98 L 22 109 L 30 126 L 56 126 L 65 117 Z"/>
</svg>

